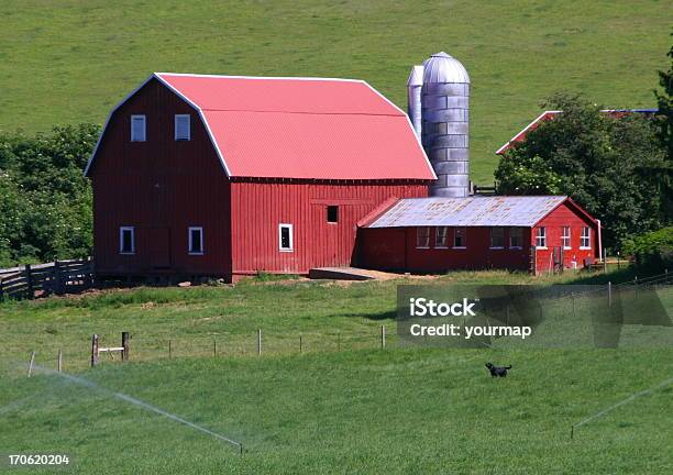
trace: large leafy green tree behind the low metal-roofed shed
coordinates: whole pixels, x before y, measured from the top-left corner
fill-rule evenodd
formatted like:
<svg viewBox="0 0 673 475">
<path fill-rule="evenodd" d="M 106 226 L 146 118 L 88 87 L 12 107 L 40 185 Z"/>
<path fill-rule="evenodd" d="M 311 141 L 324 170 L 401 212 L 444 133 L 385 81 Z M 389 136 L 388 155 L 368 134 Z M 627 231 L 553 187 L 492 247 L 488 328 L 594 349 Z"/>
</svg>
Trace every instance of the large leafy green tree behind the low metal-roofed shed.
<svg viewBox="0 0 673 475">
<path fill-rule="evenodd" d="M 499 194 L 567 195 L 602 220 L 607 247 L 665 222 L 670 167 L 655 121 L 603 114 L 580 95 L 556 93 L 542 106 L 564 113 L 500 159 Z"/>
</svg>

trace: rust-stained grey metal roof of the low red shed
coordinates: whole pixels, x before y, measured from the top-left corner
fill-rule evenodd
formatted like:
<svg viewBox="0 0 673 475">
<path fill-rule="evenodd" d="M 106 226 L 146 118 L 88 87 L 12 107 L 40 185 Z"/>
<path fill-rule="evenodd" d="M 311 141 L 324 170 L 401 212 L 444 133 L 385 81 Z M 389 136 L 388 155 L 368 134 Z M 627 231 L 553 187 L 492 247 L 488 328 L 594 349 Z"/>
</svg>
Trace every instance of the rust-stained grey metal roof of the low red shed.
<svg viewBox="0 0 673 475">
<path fill-rule="evenodd" d="M 399 200 L 366 228 L 533 227 L 565 196 L 474 196 Z"/>
</svg>

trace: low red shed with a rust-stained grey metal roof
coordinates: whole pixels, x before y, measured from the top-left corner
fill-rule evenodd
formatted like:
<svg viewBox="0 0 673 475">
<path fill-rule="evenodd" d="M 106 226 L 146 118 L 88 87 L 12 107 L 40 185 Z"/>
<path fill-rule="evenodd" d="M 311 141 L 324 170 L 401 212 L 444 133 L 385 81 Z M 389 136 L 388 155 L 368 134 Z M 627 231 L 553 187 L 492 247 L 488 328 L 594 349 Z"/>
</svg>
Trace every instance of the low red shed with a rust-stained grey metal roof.
<svg viewBox="0 0 673 475">
<path fill-rule="evenodd" d="M 384 270 L 537 274 L 600 255 L 600 223 L 563 196 L 393 200 L 360 225 L 361 263 Z"/>
</svg>

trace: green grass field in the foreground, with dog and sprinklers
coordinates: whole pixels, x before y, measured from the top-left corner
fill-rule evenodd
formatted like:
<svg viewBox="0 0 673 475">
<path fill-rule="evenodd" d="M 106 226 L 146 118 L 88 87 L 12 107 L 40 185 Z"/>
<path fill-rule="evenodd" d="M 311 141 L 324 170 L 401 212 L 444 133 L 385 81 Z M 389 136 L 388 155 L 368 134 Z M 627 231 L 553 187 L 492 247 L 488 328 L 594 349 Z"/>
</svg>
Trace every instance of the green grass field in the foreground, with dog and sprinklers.
<svg viewBox="0 0 673 475">
<path fill-rule="evenodd" d="M 618 278 L 628 272 L 589 281 Z M 570 439 L 572 424 L 673 377 L 670 347 L 404 349 L 390 334 L 380 350 L 378 329 L 394 333 L 395 289 L 402 281 L 250 281 L 4 303 L 0 452 L 66 453 L 70 471 L 81 474 L 673 470 L 671 385 Z M 577 276 L 488 272 L 432 283 L 570 281 Z M 255 355 L 257 328 L 264 329 L 262 357 Z M 122 330 L 132 332 L 131 362 L 103 357 L 87 369 L 90 334 L 117 344 Z M 341 351 L 335 332 L 343 336 Z M 298 333 L 308 342 L 302 354 Z M 152 340 L 169 338 L 202 339 L 205 350 L 173 360 L 165 346 L 143 352 Z M 223 345 L 217 357 L 208 354 L 211 338 Z M 86 380 L 51 373 L 57 347 L 65 347 L 66 371 Z M 40 367 L 26 378 L 31 350 Z M 514 369 L 492 379 L 487 361 Z M 115 393 L 240 441 L 245 452 Z"/>
</svg>

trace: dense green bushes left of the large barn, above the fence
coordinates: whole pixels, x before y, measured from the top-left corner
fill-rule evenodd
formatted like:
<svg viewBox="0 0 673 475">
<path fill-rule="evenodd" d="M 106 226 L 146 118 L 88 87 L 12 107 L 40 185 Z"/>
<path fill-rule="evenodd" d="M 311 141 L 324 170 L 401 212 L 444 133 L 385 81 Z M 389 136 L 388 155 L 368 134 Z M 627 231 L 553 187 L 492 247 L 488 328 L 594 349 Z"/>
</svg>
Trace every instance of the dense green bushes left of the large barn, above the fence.
<svg viewBox="0 0 673 475">
<path fill-rule="evenodd" d="M 91 187 L 84 167 L 98 125 L 0 135 L 0 267 L 89 255 Z"/>
</svg>

